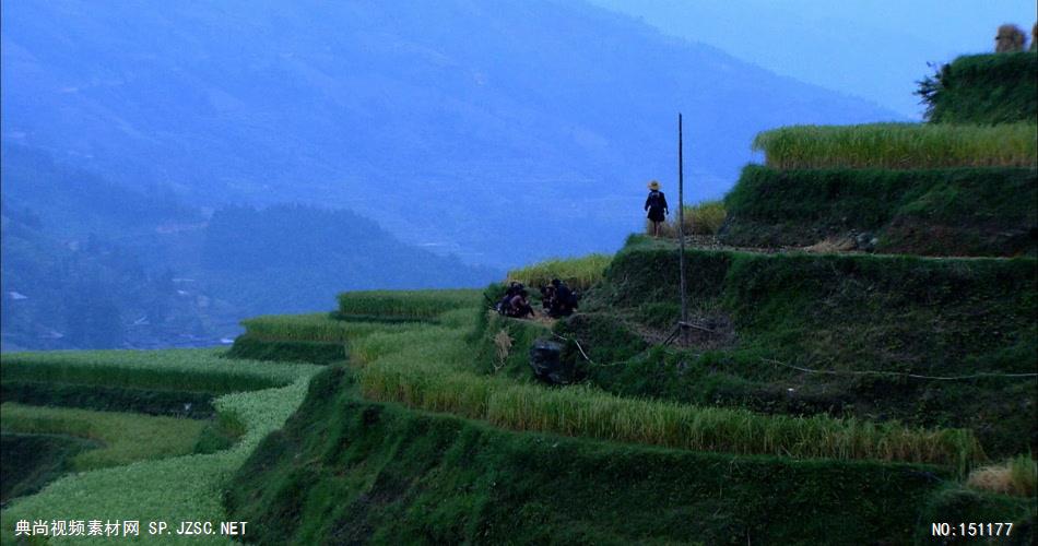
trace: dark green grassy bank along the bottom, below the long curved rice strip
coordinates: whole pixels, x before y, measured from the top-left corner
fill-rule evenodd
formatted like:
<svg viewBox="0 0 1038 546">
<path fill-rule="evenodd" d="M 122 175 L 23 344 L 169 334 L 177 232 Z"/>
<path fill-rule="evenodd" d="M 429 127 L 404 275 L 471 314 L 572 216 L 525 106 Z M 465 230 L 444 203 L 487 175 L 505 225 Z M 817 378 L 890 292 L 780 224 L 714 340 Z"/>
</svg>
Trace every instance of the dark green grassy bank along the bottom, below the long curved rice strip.
<svg viewBox="0 0 1038 546">
<path fill-rule="evenodd" d="M 226 506 L 259 544 L 899 543 L 943 521 L 920 511 L 947 477 L 511 432 L 363 401 L 335 367 L 238 471 Z M 984 521 L 1029 513 L 1026 499 L 995 502 Z"/>
</svg>

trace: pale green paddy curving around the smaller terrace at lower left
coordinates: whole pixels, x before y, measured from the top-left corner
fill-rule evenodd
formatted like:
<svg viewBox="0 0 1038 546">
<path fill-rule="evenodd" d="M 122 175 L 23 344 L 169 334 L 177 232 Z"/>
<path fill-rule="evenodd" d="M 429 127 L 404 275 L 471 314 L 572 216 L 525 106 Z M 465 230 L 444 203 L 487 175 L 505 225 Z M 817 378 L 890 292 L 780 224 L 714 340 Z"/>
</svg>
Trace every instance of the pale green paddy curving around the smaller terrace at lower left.
<svg viewBox="0 0 1038 546">
<path fill-rule="evenodd" d="M 49 361 L 52 365 L 54 357 L 57 356 L 57 360 L 66 366 L 89 365 L 89 369 L 98 376 L 104 373 L 101 363 L 105 360 L 105 358 L 99 357 L 107 356 L 110 357 L 109 360 L 116 363 L 109 368 L 115 377 L 128 377 L 125 375 L 127 368 L 154 366 L 165 368 L 166 372 L 179 370 L 181 372 L 180 380 L 188 381 L 191 380 L 190 375 L 192 372 L 198 373 L 205 367 L 229 366 L 236 369 L 239 366 L 241 368 L 253 366 L 257 368 L 256 373 L 258 376 L 264 377 L 268 381 L 276 381 L 281 385 L 249 392 L 232 392 L 213 401 L 221 419 L 239 423 L 244 428 L 244 435 L 239 441 L 229 449 L 211 454 L 182 454 L 162 459 L 148 458 L 148 460 L 139 460 L 130 464 L 80 472 L 55 480 L 35 495 L 14 499 L 10 506 L 4 508 L 2 517 L 0 517 L 2 519 L 0 533 L 2 533 L 4 544 L 15 543 L 13 536 L 14 524 L 22 520 L 46 520 L 48 522 L 52 519 L 66 521 L 129 520 L 140 522 L 219 522 L 229 520 L 231 518 L 224 509 L 222 499 L 226 488 L 232 486 L 231 480 L 234 472 L 252 453 L 260 440 L 281 428 L 288 416 L 295 412 L 306 395 L 309 378 L 321 369 L 319 366 L 309 365 L 275 365 L 247 360 L 235 363 L 219 358 L 217 353 L 211 351 L 91 352 L 85 357 L 78 357 L 71 353 L 19 356 L 20 366 L 33 366 L 39 361 Z M 5 372 L 9 364 L 7 357 L 8 355 L 4 355 Z M 137 361 L 135 365 L 134 360 Z M 189 364 L 191 360 L 194 360 L 194 363 Z M 231 378 L 247 379 L 248 376 L 239 375 L 231 376 Z M 175 379 L 176 376 L 172 377 L 170 380 Z M 10 408 L 9 405 L 4 405 L 4 427 L 8 426 L 8 411 Z M 145 428 L 143 423 L 146 419 L 139 420 L 137 415 L 120 417 L 118 414 L 108 414 L 87 418 L 84 416 L 94 413 L 66 410 L 51 411 L 39 407 L 15 407 L 14 411 L 26 412 L 27 415 L 25 415 L 26 419 L 14 419 L 12 423 L 32 423 L 32 427 L 36 430 L 64 427 L 82 431 L 93 430 L 92 427 L 94 426 L 108 429 L 111 426 L 119 426 L 121 423 L 122 425 L 140 428 L 139 432 L 143 436 L 138 436 L 135 443 L 143 444 L 150 441 L 146 438 L 148 431 L 143 430 Z M 62 417 L 50 419 L 55 416 Z M 80 419 L 81 417 L 86 420 Z M 119 420 L 123 418 L 129 420 Z M 198 423 L 188 419 L 174 420 L 182 420 L 189 424 L 188 426 L 194 426 L 193 424 Z M 104 436 L 114 432 L 95 430 L 90 434 Z M 181 440 L 190 438 L 193 441 L 197 436 L 186 431 L 182 432 Z M 168 444 L 168 442 L 165 443 Z M 78 456 L 84 459 L 79 464 L 95 468 L 96 466 L 92 465 L 107 466 L 107 463 L 116 462 L 116 451 L 127 453 L 149 449 L 146 446 L 139 446 L 131 450 L 130 448 L 123 448 L 119 441 L 113 441 L 109 448 L 111 451 L 105 456 L 102 456 L 102 450 L 81 453 Z M 182 449 L 182 446 L 180 449 Z M 87 456 L 91 453 L 95 453 L 95 455 L 92 455 L 95 459 Z M 141 529 L 141 536 L 146 536 L 144 529 Z M 50 542 L 61 544 L 62 538 L 69 542 L 74 541 L 75 544 L 109 544 L 111 542 L 111 537 L 105 536 L 50 537 Z M 173 544 L 226 544 L 227 538 L 219 535 L 169 535 L 164 537 L 164 542 Z"/>
</svg>

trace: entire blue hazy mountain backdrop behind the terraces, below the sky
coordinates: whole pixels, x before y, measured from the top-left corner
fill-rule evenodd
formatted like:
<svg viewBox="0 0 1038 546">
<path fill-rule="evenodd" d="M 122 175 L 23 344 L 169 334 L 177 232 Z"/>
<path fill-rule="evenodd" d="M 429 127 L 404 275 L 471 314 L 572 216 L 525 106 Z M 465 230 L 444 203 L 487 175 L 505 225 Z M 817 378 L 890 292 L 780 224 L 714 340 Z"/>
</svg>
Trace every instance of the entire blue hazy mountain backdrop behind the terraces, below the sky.
<svg viewBox="0 0 1038 546">
<path fill-rule="evenodd" d="M 908 119 L 581 1 L 0 8 L 5 349 L 212 344 L 614 251 L 649 179 L 675 197 L 679 111 L 687 201 L 762 130 Z"/>
</svg>

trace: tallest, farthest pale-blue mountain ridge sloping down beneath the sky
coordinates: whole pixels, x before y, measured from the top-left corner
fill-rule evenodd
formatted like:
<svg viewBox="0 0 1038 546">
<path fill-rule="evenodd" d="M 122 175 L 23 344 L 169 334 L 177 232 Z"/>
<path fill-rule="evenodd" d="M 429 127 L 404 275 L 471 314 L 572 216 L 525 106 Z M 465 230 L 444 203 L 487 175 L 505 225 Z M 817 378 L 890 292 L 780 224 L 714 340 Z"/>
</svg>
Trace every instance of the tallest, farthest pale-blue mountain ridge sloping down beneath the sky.
<svg viewBox="0 0 1038 546">
<path fill-rule="evenodd" d="M 5 2 L 2 139 L 196 206 L 302 202 L 514 265 L 717 197 L 788 123 L 897 115 L 582 2 Z"/>
</svg>

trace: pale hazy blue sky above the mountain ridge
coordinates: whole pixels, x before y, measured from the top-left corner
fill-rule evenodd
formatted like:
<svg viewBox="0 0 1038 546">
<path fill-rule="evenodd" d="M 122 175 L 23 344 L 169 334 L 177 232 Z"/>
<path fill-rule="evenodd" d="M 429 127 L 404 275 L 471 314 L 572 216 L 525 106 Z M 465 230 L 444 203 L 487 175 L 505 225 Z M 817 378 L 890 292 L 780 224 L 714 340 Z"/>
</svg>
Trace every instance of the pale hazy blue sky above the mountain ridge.
<svg viewBox="0 0 1038 546">
<path fill-rule="evenodd" d="M 912 118 L 928 62 L 991 51 L 1000 24 L 1030 34 L 1038 17 L 1034 0 L 590 1 Z"/>
</svg>

